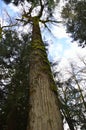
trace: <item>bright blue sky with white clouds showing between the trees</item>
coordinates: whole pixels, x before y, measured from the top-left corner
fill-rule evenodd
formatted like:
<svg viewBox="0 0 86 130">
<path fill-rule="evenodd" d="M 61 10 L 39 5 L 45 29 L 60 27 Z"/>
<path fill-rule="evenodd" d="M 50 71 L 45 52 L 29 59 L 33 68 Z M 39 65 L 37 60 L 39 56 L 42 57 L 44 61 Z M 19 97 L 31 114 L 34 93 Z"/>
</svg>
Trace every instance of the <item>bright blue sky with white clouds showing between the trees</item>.
<svg viewBox="0 0 86 130">
<path fill-rule="evenodd" d="M 56 11 L 61 11 L 61 7 L 63 2 L 61 1 L 59 8 L 56 8 Z M 2 16 L 3 20 L 0 18 L 1 24 L 5 22 L 5 10 L 8 10 L 10 15 L 13 15 L 14 12 L 19 12 L 19 8 L 14 7 L 12 4 L 5 5 L 0 0 L 0 16 Z M 60 19 L 60 13 L 56 13 L 55 17 Z M 64 67 L 68 66 L 69 61 L 76 61 L 80 63 L 78 60 L 78 56 L 86 57 L 86 48 L 78 47 L 77 42 L 72 42 L 70 35 L 66 33 L 66 27 L 63 24 L 58 24 L 57 26 L 51 25 L 51 33 L 48 33 L 46 30 L 43 30 L 42 37 L 45 38 L 48 43 L 48 58 L 50 61 L 59 61 L 60 60 L 60 69 L 64 69 Z M 67 130 L 67 127 L 66 129 Z"/>
</svg>

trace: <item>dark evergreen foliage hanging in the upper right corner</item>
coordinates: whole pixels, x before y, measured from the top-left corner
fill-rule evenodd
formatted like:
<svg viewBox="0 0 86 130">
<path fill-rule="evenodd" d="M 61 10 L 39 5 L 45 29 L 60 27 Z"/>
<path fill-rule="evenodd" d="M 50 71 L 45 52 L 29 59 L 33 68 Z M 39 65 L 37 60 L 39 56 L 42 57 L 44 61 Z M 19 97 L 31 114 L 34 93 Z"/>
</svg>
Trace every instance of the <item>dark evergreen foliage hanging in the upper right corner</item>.
<svg viewBox="0 0 86 130">
<path fill-rule="evenodd" d="M 86 1 L 67 0 L 63 7 L 62 18 L 67 27 L 67 33 L 71 34 L 74 41 L 79 42 L 79 46 L 86 45 Z"/>
</svg>

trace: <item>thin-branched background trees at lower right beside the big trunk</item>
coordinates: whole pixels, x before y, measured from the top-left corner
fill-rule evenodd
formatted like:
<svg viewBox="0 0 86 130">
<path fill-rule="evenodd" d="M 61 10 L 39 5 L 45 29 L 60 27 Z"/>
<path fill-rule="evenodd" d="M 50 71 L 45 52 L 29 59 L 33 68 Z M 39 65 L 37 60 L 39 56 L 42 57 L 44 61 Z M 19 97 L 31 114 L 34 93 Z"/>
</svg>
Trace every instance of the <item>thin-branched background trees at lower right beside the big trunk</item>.
<svg viewBox="0 0 86 130">
<path fill-rule="evenodd" d="M 59 86 L 57 90 L 61 112 L 70 130 L 86 129 L 86 62 L 82 57 L 79 57 L 79 60 L 79 64 L 70 63 L 65 73 L 56 71 L 57 64 L 54 64 L 53 68 L 56 84 Z"/>
</svg>

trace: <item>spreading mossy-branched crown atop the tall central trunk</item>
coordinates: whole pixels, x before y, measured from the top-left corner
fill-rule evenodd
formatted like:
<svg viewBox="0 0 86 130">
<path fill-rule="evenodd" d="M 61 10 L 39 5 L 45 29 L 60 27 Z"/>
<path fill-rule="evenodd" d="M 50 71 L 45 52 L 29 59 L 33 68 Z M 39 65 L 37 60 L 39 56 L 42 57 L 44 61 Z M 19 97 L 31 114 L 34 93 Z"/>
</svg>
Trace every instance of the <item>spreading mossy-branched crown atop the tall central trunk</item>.
<svg viewBox="0 0 86 130">
<path fill-rule="evenodd" d="M 24 25 L 28 23 L 32 23 L 32 18 L 34 15 L 37 17 L 41 18 L 40 22 L 44 24 L 45 27 L 47 25 L 45 23 L 58 23 L 57 20 L 55 20 L 53 16 L 53 12 L 57 4 L 59 3 L 60 0 L 14 0 L 14 1 L 9 1 L 8 0 L 3 0 L 6 4 L 14 3 L 16 6 L 21 5 L 23 8 L 21 8 L 21 13 L 22 13 L 22 18 L 20 19 L 20 22 L 24 22 Z M 17 3 L 16 3 L 17 2 Z M 25 8 L 25 6 L 27 6 Z M 40 8 L 39 8 L 40 7 Z M 28 8 L 28 9 L 27 9 Z M 36 11 L 36 13 L 34 13 Z M 34 14 L 34 15 L 33 15 Z M 34 17 L 34 20 L 37 17 Z M 16 19 L 19 20 L 19 19 Z"/>
</svg>

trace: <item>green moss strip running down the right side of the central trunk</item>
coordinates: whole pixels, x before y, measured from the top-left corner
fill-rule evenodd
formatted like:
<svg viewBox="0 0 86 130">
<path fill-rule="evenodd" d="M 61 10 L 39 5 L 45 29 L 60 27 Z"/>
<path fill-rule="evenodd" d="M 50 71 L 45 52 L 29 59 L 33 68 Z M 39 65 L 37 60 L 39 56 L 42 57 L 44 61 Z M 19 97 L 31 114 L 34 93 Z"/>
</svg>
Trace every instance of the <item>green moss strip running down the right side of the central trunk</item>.
<svg viewBox="0 0 86 130">
<path fill-rule="evenodd" d="M 32 45 L 32 49 L 37 49 L 37 55 L 39 55 L 42 59 L 43 66 L 40 67 L 40 70 L 48 74 L 49 80 L 50 80 L 50 88 L 52 91 L 56 92 L 57 87 L 54 83 L 53 80 L 53 75 L 51 73 L 51 68 L 50 68 L 50 62 L 47 59 L 47 54 L 46 54 L 46 49 L 45 46 L 41 44 L 40 40 L 35 40 L 34 44 Z M 39 51 L 38 51 L 39 50 Z"/>
</svg>

